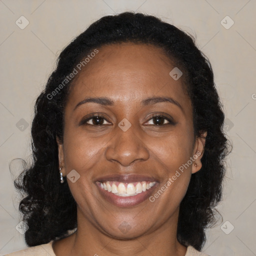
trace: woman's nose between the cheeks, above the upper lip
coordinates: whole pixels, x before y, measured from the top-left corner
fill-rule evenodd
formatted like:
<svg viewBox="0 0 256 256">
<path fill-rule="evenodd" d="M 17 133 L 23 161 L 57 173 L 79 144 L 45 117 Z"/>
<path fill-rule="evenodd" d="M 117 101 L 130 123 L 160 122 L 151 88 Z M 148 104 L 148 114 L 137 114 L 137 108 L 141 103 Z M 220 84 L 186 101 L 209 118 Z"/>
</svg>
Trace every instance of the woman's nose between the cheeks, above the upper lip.
<svg viewBox="0 0 256 256">
<path fill-rule="evenodd" d="M 107 160 L 129 166 L 136 160 L 149 158 L 146 143 L 139 136 L 139 132 L 135 132 L 134 125 L 131 125 L 126 131 L 123 131 L 119 126 L 115 129 L 115 135 L 110 139 L 105 151 Z"/>
</svg>

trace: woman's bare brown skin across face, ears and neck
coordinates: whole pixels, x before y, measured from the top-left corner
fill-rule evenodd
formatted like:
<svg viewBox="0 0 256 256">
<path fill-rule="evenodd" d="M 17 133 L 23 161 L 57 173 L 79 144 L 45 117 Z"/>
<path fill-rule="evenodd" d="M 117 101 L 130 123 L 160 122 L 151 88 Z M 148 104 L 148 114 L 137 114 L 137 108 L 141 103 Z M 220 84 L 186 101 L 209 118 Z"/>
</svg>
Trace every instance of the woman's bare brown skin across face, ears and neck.
<svg viewBox="0 0 256 256">
<path fill-rule="evenodd" d="M 54 241 L 53 250 L 57 256 L 184 256 L 186 247 L 176 238 L 179 204 L 191 174 L 201 168 L 204 139 L 193 135 L 182 76 L 172 79 L 169 72 L 175 65 L 152 45 L 121 43 L 98 50 L 75 78 L 64 111 L 63 141 L 57 139 L 63 176 L 75 169 L 80 178 L 74 183 L 66 179 L 77 202 L 77 231 Z M 171 97 L 182 109 L 170 102 L 140 104 L 153 96 Z M 114 103 L 75 108 L 85 97 L 108 97 Z M 101 125 L 92 125 L 95 118 L 87 121 L 91 125 L 79 125 L 92 113 L 103 116 Z M 157 125 L 156 113 L 171 116 L 175 124 L 163 117 Z M 118 126 L 123 118 L 131 123 L 125 132 Z M 102 175 L 138 173 L 159 180 L 155 193 L 196 152 L 200 156 L 153 202 L 118 207 L 93 183 Z M 123 221 L 130 227 L 126 233 L 118 228 Z"/>
</svg>

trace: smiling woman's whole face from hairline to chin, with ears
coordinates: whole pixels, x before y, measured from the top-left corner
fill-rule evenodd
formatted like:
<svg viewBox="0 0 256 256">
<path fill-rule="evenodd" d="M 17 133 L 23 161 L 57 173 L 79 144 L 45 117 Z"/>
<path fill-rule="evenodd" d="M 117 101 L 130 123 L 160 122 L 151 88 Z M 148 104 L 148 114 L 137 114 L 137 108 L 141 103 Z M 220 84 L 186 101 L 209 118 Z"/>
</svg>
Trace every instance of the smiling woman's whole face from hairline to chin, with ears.
<svg viewBox="0 0 256 256">
<path fill-rule="evenodd" d="M 160 48 L 121 43 L 98 48 L 77 74 L 58 142 L 77 228 L 130 238 L 175 227 L 204 141 L 174 67 Z"/>
</svg>

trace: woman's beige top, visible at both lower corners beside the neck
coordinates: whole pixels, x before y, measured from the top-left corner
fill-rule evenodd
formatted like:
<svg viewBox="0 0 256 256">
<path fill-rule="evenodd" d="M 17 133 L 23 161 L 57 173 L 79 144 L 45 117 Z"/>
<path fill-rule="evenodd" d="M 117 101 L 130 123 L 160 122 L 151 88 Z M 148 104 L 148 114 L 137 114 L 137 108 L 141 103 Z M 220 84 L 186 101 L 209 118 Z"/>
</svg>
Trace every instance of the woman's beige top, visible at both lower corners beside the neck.
<svg viewBox="0 0 256 256">
<path fill-rule="evenodd" d="M 53 240 L 51 240 L 49 243 L 44 243 L 41 245 L 28 247 L 23 250 L 19 250 L 19 251 L 15 251 L 15 252 L 6 254 L 5 256 L 21 256 L 21 255 L 56 256 L 52 249 L 52 246 L 51 246 L 52 242 L 53 242 Z M 192 246 L 188 246 L 185 256 L 208 256 L 208 255 L 204 254 L 202 252 L 199 252 Z"/>
</svg>

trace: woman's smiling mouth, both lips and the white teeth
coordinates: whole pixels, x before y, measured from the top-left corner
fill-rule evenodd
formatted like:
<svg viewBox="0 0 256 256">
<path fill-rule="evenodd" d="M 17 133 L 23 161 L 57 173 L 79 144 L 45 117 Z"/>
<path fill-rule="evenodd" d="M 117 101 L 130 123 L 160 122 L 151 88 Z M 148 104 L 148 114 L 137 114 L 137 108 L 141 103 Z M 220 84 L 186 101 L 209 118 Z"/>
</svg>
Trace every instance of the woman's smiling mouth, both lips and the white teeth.
<svg viewBox="0 0 256 256">
<path fill-rule="evenodd" d="M 119 207 L 131 207 L 143 202 L 157 183 L 152 177 L 132 174 L 105 176 L 95 182 L 103 198 Z"/>
</svg>

